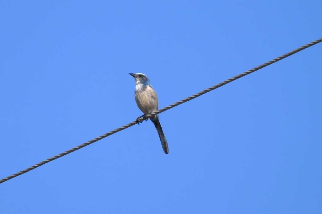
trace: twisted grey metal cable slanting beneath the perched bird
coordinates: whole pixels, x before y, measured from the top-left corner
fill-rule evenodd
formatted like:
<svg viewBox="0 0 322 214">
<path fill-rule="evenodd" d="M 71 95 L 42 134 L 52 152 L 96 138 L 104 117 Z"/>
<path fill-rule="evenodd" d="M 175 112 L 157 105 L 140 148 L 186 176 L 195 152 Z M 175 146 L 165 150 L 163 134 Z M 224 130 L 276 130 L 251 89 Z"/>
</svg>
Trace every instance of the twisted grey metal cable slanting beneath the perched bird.
<svg viewBox="0 0 322 214">
<path fill-rule="evenodd" d="M 166 110 L 168 110 L 168 109 L 171 109 L 171 108 L 173 108 L 173 107 L 175 107 L 175 106 L 177 106 L 177 105 L 180 105 L 180 104 L 182 104 L 182 103 L 185 103 L 185 102 L 187 102 L 187 101 L 189 101 L 189 100 L 192 100 L 192 99 L 194 99 L 194 98 L 196 98 L 196 97 L 199 97 L 199 96 L 201 96 L 201 95 L 203 95 L 203 94 L 206 94 L 207 92 L 210 92 L 210 91 L 212 91 L 212 90 L 214 90 L 214 89 L 216 89 L 216 88 L 219 88 L 219 87 L 221 87 L 221 86 L 223 86 L 223 85 L 226 85 L 227 83 L 230 83 L 230 82 L 232 82 L 232 81 L 234 81 L 234 80 L 236 80 L 236 79 L 239 79 L 239 78 L 241 78 L 241 77 L 243 77 L 243 76 L 246 76 L 246 75 L 248 75 L 248 74 L 251 74 L 251 73 L 253 73 L 254 71 L 257 71 L 257 70 L 259 70 L 259 69 L 261 69 L 261 68 L 263 68 L 263 67 L 266 67 L 266 66 L 268 66 L 268 65 L 270 65 L 270 64 L 273 64 L 273 63 L 275 63 L 275 62 L 277 62 L 277 61 L 279 61 L 279 60 L 281 60 L 281 59 L 284 59 L 284 58 L 286 58 L 286 57 L 289 57 L 289 56 L 291 56 L 291 55 L 293 55 L 293 54 L 295 54 L 295 53 L 297 53 L 297 52 L 299 52 L 299 51 L 301 51 L 301 50 L 303 50 L 303 49 L 306 49 L 306 48 L 308 48 L 308 47 L 311 47 L 312 45 L 315 45 L 315 44 L 317 44 L 317 43 L 319 43 L 319 42 L 321 42 L 321 41 L 322 41 L 322 38 L 320 38 L 320 39 L 318 39 L 318 40 L 315 40 L 315 41 L 313 41 L 313 42 L 311 42 L 311 43 L 308 43 L 308 44 L 306 44 L 306 45 L 304 45 L 304 46 L 302 46 L 302 47 L 300 47 L 300 48 L 298 48 L 298 49 L 295 49 L 295 50 L 293 50 L 293 51 L 291 51 L 291 52 L 289 52 L 289 53 L 287 53 L 287 54 L 284 54 L 284 55 L 282 55 L 282 56 L 280 56 L 280 57 L 278 57 L 278 58 L 275 58 L 275 59 L 273 59 L 273 60 L 270 60 L 269 62 L 266 62 L 266 63 L 264 63 L 264 64 L 262 64 L 262 65 L 260 65 L 260 66 L 257 66 L 257 67 L 255 67 L 255 68 L 253 68 L 253 69 L 251 69 L 251 70 L 248 70 L 248 71 L 246 71 L 246 72 L 244 72 L 244 73 L 242 73 L 242 74 L 239 74 L 239 75 L 237 75 L 237 76 L 234 76 L 234 77 L 232 77 L 232 78 L 230 78 L 230 79 L 228 79 L 228 80 L 226 80 L 226 81 L 223 81 L 223 82 L 221 82 L 221 83 L 219 83 L 219 84 L 217 84 L 217 85 L 214 85 L 214 86 L 212 86 L 212 87 L 210 87 L 210 88 L 207 88 L 207 89 L 205 89 L 204 91 L 201 91 L 201 92 L 199 92 L 199 93 L 197 93 L 197 94 L 194 94 L 194 95 L 192 95 L 192 96 L 190 96 L 190 97 L 187 97 L 187 98 L 185 98 L 185 99 L 183 99 L 183 100 L 180 100 L 179 102 L 176 102 L 176 103 L 173 103 L 173 104 L 171 104 L 171 105 L 169 105 L 169 106 L 166 106 L 166 107 L 164 107 L 164 108 L 162 108 L 162 109 L 160 109 L 160 110 L 158 110 L 158 111 L 152 112 L 151 114 L 148 114 L 148 115 L 146 116 L 146 118 L 151 118 L 151 117 L 155 116 L 156 114 L 159 114 L 159 113 L 161 113 L 161 112 L 163 112 L 163 111 L 166 111 Z M 141 119 L 139 119 L 138 121 L 143 121 L 143 120 L 144 120 L 144 119 L 143 119 L 143 118 L 141 118 Z M 20 171 L 20 172 L 18 172 L 18 173 L 15 173 L 15 174 L 10 175 L 10 176 L 8 176 L 8 177 L 6 177 L 6 178 L 4 178 L 4 179 L 1 179 L 1 180 L 0 180 L 0 183 L 3 183 L 3 182 L 5 182 L 5 181 L 8 181 L 8 180 L 10 180 L 10 179 L 12 179 L 12 178 L 14 178 L 14 177 L 17 177 L 17 176 L 21 175 L 21 174 L 24 174 L 24 173 L 26 173 L 26 172 L 29 172 L 30 170 L 33 170 L 33 169 L 35 169 L 35 168 L 37 168 L 37 167 L 39 167 L 39 166 L 41 166 L 41 165 L 44 165 L 44 164 L 46 164 L 46 163 L 48 163 L 48 162 L 50 162 L 50 161 L 53 161 L 53 160 L 55 160 L 55 159 L 57 159 L 57 158 L 60 158 L 60 157 L 62 157 L 62 156 L 65 156 L 65 155 L 67 155 L 67 154 L 69 154 L 69 153 L 71 153 L 71 152 L 74 152 L 74 151 L 76 151 L 76 150 L 78 150 L 78 149 L 80 149 L 80 148 L 86 147 L 86 146 L 88 146 L 88 145 L 90 145 L 90 144 L 92 144 L 92 143 L 94 143 L 94 142 L 96 142 L 96 141 L 99 141 L 100 139 L 106 138 L 107 136 L 112 135 L 112 134 L 114 134 L 114 133 L 116 133 L 116 132 L 119 132 L 119 131 L 121 131 L 121 130 L 123 130 L 123 129 L 127 129 L 128 127 L 131 127 L 131 126 L 133 126 L 133 125 L 135 125 L 135 124 L 137 124 L 137 122 L 136 122 L 136 121 L 133 121 L 133 122 L 131 122 L 131 123 L 129 123 L 129 124 L 127 124 L 127 125 L 125 125 L 125 126 L 122 126 L 122 127 L 118 128 L 118 129 L 114 129 L 113 131 L 110 131 L 110 132 L 108 132 L 108 133 L 106 133 L 106 134 L 103 134 L 103 135 L 99 136 L 98 138 L 92 139 L 92 140 L 90 140 L 90 141 L 88 141 L 88 142 L 86 142 L 86 143 L 83 143 L 83 144 L 81 144 L 81 145 L 79 145 L 79 146 L 77 146 L 77 147 L 74 147 L 74 148 L 72 148 L 72 149 L 70 149 L 70 150 L 68 150 L 68 151 L 65 151 L 65 152 L 63 152 L 63 153 L 61 153 L 61 154 L 59 154 L 59 155 L 53 156 L 53 157 L 51 157 L 51 158 L 49 158 L 49 159 L 47 159 L 47 160 L 44 160 L 44 161 L 42 161 L 42 162 L 40 162 L 40 163 L 38 163 L 38 164 L 36 164 L 36 165 L 33 165 L 33 166 L 31 166 L 31 167 L 29 167 L 29 168 L 27 168 L 27 169 L 25 169 L 25 170 L 22 170 L 22 171 Z"/>
</svg>

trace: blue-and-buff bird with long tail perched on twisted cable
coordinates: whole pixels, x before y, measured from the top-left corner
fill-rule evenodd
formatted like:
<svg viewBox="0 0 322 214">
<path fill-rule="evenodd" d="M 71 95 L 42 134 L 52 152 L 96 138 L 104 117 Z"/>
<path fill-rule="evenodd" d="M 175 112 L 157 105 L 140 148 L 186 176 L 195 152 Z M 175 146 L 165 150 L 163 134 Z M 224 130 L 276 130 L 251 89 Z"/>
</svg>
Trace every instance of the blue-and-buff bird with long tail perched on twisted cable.
<svg viewBox="0 0 322 214">
<path fill-rule="evenodd" d="M 132 74 L 129 73 L 129 75 L 133 76 L 136 81 L 136 86 L 135 86 L 135 101 L 137 103 L 137 107 L 144 113 L 141 117 L 137 118 L 137 123 L 138 119 L 142 118 L 145 119 L 145 116 L 158 110 L 159 104 L 158 104 L 158 96 L 156 94 L 156 91 L 153 89 L 150 79 L 147 77 L 145 74 Z M 169 147 L 168 147 L 168 142 L 166 141 L 166 137 L 164 136 L 161 124 L 159 122 L 159 115 L 155 115 L 154 117 L 150 118 L 151 121 L 153 122 L 154 126 L 156 127 L 156 131 L 159 134 L 159 138 L 161 141 L 161 145 L 163 148 L 163 151 L 168 154 L 169 153 Z M 148 120 L 148 119 L 147 119 Z"/>
</svg>

